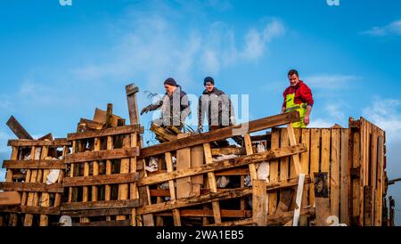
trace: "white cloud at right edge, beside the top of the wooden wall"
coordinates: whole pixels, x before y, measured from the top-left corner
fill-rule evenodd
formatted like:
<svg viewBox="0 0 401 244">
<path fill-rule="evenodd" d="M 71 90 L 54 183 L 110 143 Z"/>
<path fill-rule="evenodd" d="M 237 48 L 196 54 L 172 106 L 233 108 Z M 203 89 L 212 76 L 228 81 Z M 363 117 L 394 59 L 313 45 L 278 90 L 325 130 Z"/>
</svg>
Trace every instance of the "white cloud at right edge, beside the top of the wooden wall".
<svg viewBox="0 0 401 244">
<path fill-rule="evenodd" d="M 390 140 L 401 139 L 401 101 L 396 99 L 374 98 L 363 110 L 364 118 L 386 131 Z"/>
</svg>

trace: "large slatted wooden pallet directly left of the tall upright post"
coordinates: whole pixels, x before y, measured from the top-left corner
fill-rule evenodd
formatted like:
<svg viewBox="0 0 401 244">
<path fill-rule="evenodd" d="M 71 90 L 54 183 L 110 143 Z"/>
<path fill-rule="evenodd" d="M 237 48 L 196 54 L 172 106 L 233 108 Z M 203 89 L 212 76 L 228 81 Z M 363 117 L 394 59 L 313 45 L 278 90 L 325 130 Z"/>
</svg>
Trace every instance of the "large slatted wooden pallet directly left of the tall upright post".
<svg viewBox="0 0 401 244">
<path fill-rule="evenodd" d="M 70 175 L 63 187 L 69 198 L 61 205 L 61 214 L 70 216 L 74 225 L 136 225 L 140 132 L 137 125 L 68 134 L 73 153 L 65 160 Z"/>
</svg>

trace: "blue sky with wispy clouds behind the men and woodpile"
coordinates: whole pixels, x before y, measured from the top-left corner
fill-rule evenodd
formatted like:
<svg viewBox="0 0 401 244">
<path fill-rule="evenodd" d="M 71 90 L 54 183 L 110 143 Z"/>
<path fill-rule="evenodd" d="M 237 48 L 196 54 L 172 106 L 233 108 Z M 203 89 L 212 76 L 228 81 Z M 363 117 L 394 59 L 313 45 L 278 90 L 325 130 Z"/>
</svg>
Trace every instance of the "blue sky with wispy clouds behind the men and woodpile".
<svg viewBox="0 0 401 244">
<path fill-rule="evenodd" d="M 64 137 L 108 102 L 127 118 L 131 82 L 161 93 L 162 81 L 175 77 L 199 95 L 203 77 L 213 76 L 227 94 L 249 94 L 250 119 L 274 115 L 295 68 L 314 92 L 311 126 L 371 120 L 387 131 L 389 178 L 399 177 L 400 9 L 400 0 L 4 0 L 0 158 L 10 155 L 11 115 L 34 137 Z M 151 102 L 143 93 L 138 101 Z M 400 192 L 389 188 L 398 206 Z"/>
</svg>

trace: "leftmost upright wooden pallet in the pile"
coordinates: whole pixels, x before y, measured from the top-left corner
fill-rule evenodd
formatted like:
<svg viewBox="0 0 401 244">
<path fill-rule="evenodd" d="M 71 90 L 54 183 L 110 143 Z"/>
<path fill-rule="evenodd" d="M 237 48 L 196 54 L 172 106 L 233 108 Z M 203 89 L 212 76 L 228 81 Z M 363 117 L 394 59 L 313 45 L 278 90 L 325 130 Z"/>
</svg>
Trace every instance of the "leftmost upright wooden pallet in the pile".
<svg viewBox="0 0 401 244">
<path fill-rule="evenodd" d="M 63 192 L 61 182 L 66 168 L 64 158 L 69 151 L 70 142 L 65 139 L 10 140 L 8 144 L 12 146 L 12 157 L 4 160 L 3 167 L 7 168 L 7 177 L 5 183 L 0 183 L 0 190 L 18 191 L 21 195 L 19 207 L 3 207 L 0 210 L 11 212 L 8 225 L 47 226 L 56 223 Z M 30 155 L 30 159 L 24 159 L 27 155 Z M 47 185 L 47 175 L 53 169 L 60 170 L 59 178 L 56 183 Z M 21 171 L 24 172 L 23 181 L 20 181 L 20 176 L 13 177 Z M 54 216 L 51 221 L 49 216 Z"/>
</svg>

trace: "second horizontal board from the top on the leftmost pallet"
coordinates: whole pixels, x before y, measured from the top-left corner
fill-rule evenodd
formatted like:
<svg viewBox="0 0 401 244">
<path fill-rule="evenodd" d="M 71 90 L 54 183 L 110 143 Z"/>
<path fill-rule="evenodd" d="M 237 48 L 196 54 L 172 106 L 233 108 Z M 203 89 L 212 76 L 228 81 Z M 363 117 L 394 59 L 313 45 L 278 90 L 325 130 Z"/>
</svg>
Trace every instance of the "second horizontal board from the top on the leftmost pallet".
<svg viewBox="0 0 401 244">
<path fill-rule="evenodd" d="M 65 169 L 63 160 L 4 160 L 4 168 L 24 168 L 24 169 Z"/>
</svg>

